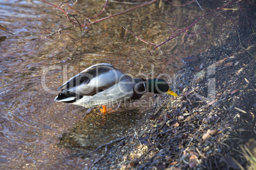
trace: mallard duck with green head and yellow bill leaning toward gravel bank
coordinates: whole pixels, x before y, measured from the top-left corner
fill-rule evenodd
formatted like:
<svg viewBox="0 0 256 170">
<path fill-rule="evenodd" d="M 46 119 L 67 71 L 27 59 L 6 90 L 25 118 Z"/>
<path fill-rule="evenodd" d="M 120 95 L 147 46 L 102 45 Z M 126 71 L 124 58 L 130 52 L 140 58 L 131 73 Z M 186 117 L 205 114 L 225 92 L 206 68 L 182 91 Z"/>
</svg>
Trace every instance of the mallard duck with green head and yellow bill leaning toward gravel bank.
<svg viewBox="0 0 256 170">
<path fill-rule="evenodd" d="M 66 88 L 63 88 L 66 86 Z M 99 63 L 83 70 L 60 86 L 55 101 L 86 108 L 135 101 L 146 92 L 178 96 L 163 79 L 140 79 L 123 74 L 109 63 Z"/>
</svg>

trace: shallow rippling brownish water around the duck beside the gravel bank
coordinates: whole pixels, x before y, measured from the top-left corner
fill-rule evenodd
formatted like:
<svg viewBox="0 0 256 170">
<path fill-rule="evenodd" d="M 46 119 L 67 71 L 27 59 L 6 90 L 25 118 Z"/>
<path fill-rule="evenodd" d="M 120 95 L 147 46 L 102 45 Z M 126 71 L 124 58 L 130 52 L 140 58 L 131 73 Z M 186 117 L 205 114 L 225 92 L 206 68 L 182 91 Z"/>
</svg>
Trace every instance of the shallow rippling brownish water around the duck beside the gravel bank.
<svg viewBox="0 0 256 170">
<path fill-rule="evenodd" d="M 89 1 L 76 5 L 76 9 L 96 14 L 104 3 Z M 103 16 L 134 6 L 110 3 Z M 86 116 L 86 108 L 54 102 L 59 92 L 57 88 L 90 65 L 102 62 L 112 63 L 134 77 L 157 77 L 162 74 L 170 83 L 174 82 L 174 73 L 182 66 L 180 58 L 206 50 L 220 31 L 218 25 L 213 27 L 212 23 L 201 22 L 194 27 L 196 31 L 203 27 L 199 34 L 194 37 L 181 35 L 161 46 L 162 54 L 155 49 L 153 56 L 148 54 L 151 46 L 125 32 L 122 27 L 158 44 L 173 30 L 160 19 L 183 28 L 188 25 L 187 20 L 197 18 L 188 13 L 190 10 L 197 10 L 197 16 L 203 14 L 196 5 L 177 8 L 166 4 L 164 8 L 159 8 L 158 4 L 152 4 L 91 25 L 82 41 L 73 41 L 69 36 L 79 38 L 81 33 L 78 28 L 64 30 L 60 36 L 45 37 L 60 27 L 71 25 L 60 11 L 49 4 L 41 1 L 1 1 L 0 24 L 18 33 L 11 35 L 0 30 L 0 36 L 3 39 L 6 37 L 0 42 L 1 169 L 87 167 L 89 160 L 69 157 L 75 151 L 57 145 L 62 134 L 82 136 L 76 138 L 80 145 L 94 143 L 96 147 L 121 136 L 117 131 L 125 134 L 124 127 L 135 126 L 139 117 L 143 116 L 143 110 L 153 103 L 138 107 L 141 110 L 122 112 L 124 117 L 120 113 L 108 114 L 103 120 L 99 114 Z M 77 18 L 81 19 L 80 16 Z M 194 34 L 194 30 L 189 30 L 188 34 Z M 142 100 L 148 101 L 151 96 L 146 95 Z M 118 119 L 120 116 L 122 119 Z M 118 122 L 113 122 L 115 120 Z M 78 126 L 83 129 L 75 132 Z M 90 140 L 84 136 L 90 136 Z"/>
</svg>

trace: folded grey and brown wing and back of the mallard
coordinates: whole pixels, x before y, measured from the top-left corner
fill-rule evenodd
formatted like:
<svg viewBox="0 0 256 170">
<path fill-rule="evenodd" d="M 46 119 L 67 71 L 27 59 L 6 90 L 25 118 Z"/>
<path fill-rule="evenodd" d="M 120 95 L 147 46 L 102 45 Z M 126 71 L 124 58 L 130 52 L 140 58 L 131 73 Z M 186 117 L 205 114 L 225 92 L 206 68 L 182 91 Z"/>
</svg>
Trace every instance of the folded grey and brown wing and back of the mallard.
<svg viewBox="0 0 256 170">
<path fill-rule="evenodd" d="M 62 93 L 92 96 L 117 84 L 122 75 L 124 74 L 113 67 L 113 65 L 99 63 L 75 75 L 69 81 L 62 84 L 60 88 L 66 86 L 66 88 L 62 89 Z"/>
</svg>

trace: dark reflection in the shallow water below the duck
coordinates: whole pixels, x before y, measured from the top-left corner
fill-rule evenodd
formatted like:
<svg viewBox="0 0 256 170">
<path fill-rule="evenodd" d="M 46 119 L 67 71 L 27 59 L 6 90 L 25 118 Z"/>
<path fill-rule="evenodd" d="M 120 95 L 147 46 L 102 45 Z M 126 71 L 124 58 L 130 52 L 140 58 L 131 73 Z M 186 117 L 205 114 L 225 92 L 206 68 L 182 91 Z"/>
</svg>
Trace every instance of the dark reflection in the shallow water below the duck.
<svg viewBox="0 0 256 170">
<path fill-rule="evenodd" d="M 103 115 L 94 110 L 87 114 L 83 121 L 79 121 L 70 129 L 69 133 L 62 134 L 60 147 L 84 148 L 90 152 L 103 143 L 120 138 L 127 133 L 127 129 L 136 126 L 141 118 L 137 109 L 122 110 Z"/>
</svg>

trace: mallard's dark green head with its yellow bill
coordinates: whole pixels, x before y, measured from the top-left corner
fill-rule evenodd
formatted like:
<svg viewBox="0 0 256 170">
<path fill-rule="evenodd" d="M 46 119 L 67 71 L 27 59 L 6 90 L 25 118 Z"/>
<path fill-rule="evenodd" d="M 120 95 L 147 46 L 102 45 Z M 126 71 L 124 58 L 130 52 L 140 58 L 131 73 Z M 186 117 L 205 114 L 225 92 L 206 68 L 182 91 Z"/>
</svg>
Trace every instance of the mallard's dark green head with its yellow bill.
<svg viewBox="0 0 256 170">
<path fill-rule="evenodd" d="M 176 93 L 171 91 L 169 85 L 164 79 L 147 79 L 145 81 L 146 91 L 151 93 L 167 93 L 169 95 L 178 96 Z"/>
</svg>

